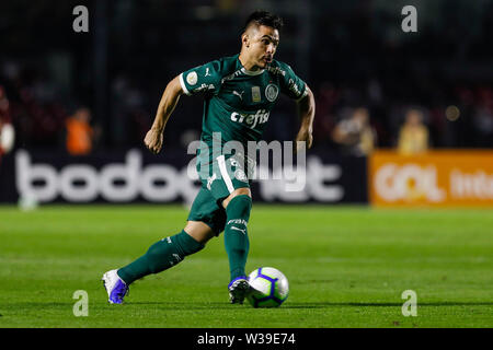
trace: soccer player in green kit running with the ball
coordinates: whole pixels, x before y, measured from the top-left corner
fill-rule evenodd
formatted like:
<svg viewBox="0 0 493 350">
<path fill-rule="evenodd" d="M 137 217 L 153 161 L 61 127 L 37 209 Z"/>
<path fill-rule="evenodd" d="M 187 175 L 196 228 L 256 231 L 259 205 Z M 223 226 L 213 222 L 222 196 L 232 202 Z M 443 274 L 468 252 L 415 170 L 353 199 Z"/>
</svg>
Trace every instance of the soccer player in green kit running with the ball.
<svg viewBox="0 0 493 350">
<path fill-rule="evenodd" d="M 193 68 L 169 82 L 144 142 L 151 152 L 160 152 L 164 127 L 180 96 L 203 93 L 202 145 L 197 150 L 197 171 L 203 185 L 180 233 L 154 243 L 129 265 L 104 273 L 102 280 L 110 303 L 123 303 L 135 280 L 175 266 L 203 249 L 222 231 L 230 267 L 230 302 L 243 303 L 249 290 L 244 269 L 249 253 L 246 225 L 252 208 L 248 177 L 252 161 L 240 152 L 214 154 L 214 143 L 238 141 L 246 150 L 249 141 L 259 141 L 282 92 L 298 105 L 301 120 L 296 141 L 311 147 L 313 94 L 288 65 L 274 60 L 282 26 L 279 16 L 256 11 L 246 21 L 239 55 Z"/>
</svg>

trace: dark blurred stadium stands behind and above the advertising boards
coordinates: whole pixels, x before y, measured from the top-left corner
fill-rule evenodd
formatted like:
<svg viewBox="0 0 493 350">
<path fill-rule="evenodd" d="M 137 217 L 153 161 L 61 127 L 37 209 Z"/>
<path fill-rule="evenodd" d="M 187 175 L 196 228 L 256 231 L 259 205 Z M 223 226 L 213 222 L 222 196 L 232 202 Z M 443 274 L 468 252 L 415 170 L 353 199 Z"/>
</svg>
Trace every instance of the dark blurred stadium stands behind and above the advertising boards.
<svg viewBox="0 0 493 350">
<path fill-rule="evenodd" d="M 74 33 L 72 9 L 89 9 L 89 33 Z M 417 9 L 417 33 L 401 10 Z M 141 147 L 160 96 L 183 70 L 240 50 L 255 9 L 282 15 L 278 60 L 312 89 L 314 147 L 348 107 L 365 105 L 378 147 L 395 145 L 403 113 L 425 112 L 432 147 L 493 147 L 491 0 L 98 0 L 0 2 L 0 85 L 10 102 L 15 148 L 64 150 L 65 120 L 80 106 L 101 128 L 96 150 Z M 446 118 L 448 106 L 460 116 Z M 198 139 L 200 97 L 183 96 L 165 130 L 167 148 Z M 294 103 L 271 114 L 266 140 L 297 131 Z"/>
</svg>

